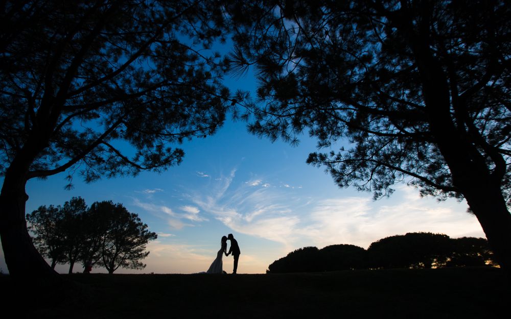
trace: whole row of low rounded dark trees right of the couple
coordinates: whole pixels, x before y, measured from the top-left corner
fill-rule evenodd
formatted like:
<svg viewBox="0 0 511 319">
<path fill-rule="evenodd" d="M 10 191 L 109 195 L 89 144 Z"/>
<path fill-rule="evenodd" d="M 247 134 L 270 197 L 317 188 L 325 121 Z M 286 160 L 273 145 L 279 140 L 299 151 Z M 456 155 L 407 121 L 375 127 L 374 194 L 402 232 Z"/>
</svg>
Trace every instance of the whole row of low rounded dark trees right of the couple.
<svg viewBox="0 0 511 319">
<path fill-rule="evenodd" d="M 304 247 L 275 260 L 267 273 L 328 272 L 347 269 L 495 266 L 484 238 L 450 238 L 427 232 L 385 237 L 367 250 L 351 244 Z"/>
</svg>

